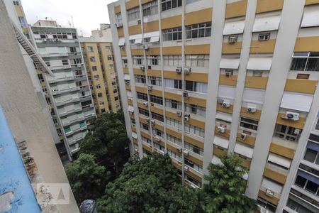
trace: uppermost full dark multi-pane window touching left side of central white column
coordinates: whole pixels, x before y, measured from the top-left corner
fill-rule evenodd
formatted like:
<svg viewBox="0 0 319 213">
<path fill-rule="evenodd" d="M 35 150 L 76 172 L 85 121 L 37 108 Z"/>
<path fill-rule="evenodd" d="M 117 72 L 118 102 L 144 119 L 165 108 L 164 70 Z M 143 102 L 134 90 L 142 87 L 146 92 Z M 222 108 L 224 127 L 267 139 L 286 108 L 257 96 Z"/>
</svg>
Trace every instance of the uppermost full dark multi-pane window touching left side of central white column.
<svg viewBox="0 0 319 213">
<path fill-rule="evenodd" d="M 211 36 L 211 22 L 186 26 L 186 38 L 202 38 Z"/>
</svg>

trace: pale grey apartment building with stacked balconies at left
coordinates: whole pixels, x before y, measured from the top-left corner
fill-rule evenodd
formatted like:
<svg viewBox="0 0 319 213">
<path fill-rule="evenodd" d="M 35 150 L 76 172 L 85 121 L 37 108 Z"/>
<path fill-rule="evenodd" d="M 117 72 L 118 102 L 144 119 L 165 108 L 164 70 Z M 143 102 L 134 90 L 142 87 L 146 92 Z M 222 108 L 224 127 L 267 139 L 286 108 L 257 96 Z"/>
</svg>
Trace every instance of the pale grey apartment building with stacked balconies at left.
<svg viewBox="0 0 319 213">
<path fill-rule="evenodd" d="M 56 21 L 40 20 L 30 27 L 30 32 L 38 54 L 54 75 L 38 73 L 60 136 L 57 150 L 62 158 L 64 154 L 71 160 L 90 120 L 96 116 L 77 30 L 62 28 Z"/>
</svg>

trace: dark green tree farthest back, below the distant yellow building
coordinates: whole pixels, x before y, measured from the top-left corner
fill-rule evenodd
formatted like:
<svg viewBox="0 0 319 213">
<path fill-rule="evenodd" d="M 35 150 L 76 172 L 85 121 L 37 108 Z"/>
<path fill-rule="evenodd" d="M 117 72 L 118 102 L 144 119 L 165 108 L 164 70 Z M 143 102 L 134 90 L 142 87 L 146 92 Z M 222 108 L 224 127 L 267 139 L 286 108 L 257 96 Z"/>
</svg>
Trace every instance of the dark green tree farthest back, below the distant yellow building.
<svg viewBox="0 0 319 213">
<path fill-rule="evenodd" d="M 125 155 L 128 143 L 123 112 L 103 114 L 95 119 L 91 132 L 80 144 L 79 153 L 89 153 L 98 161 L 113 164 L 118 175 L 128 159 Z"/>
</svg>

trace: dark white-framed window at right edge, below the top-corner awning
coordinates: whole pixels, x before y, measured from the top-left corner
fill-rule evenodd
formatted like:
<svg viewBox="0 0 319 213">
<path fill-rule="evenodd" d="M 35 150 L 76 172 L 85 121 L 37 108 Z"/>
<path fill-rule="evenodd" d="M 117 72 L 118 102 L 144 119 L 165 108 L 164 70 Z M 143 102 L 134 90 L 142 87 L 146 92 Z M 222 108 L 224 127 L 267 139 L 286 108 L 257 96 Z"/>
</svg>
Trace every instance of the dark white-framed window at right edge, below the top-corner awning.
<svg viewBox="0 0 319 213">
<path fill-rule="evenodd" d="M 319 71 L 319 52 L 293 53 L 290 70 Z"/>
</svg>

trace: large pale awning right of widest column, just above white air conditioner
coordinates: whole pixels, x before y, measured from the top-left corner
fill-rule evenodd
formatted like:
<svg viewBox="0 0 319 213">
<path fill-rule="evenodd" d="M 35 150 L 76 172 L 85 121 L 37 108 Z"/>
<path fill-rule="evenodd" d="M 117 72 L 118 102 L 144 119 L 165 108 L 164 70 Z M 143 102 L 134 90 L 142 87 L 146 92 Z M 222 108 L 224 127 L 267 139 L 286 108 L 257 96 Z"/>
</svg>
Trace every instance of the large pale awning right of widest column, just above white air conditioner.
<svg viewBox="0 0 319 213">
<path fill-rule="evenodd" d="M 309 112 L 312 103 L 313 95 L 296 92 L 284 92 L 280 107 L 284 109 Z"/>
</svg>

